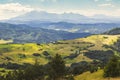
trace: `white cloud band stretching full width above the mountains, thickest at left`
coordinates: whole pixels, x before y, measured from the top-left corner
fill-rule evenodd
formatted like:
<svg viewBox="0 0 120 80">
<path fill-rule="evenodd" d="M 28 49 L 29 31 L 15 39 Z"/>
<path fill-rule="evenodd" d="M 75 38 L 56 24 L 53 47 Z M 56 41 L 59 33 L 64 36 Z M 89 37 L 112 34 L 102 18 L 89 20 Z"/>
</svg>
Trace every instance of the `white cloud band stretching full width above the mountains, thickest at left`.
<svg viewBox="0 0 120 80">
<path fill-rule="evenodd" d="M 111 6 L 111 4 L 104 4 L 102 6 Z M 114 9 L 114 11 L 111 10 L 103 10 L 103 9 L 80 9 L 80 10 L 74 10 L 74 9 L 41 9 L 41 8 L 32 8 L 30 6 L 21 5 L 19 3 L 8 3 L 8 4 L 0 4 L 0 20 L 3 19 L 10 19 L 22 14 L 25 14 L 29 11 L 37 10 L 37 11 L 47 11 L 51 13 L 78 13 L 86 16 L 93 16 L 95 14 L 103 14 L 107 16 L 116 16 L 120 17 L 120 9 Z"/>
</svg>

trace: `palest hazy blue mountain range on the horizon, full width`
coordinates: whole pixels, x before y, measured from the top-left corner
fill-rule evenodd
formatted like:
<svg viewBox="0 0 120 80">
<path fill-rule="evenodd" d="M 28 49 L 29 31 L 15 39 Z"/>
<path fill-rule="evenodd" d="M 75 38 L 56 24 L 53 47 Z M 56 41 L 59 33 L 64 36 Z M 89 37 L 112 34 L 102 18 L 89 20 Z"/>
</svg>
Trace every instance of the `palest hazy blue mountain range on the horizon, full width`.
<svg viewBox="0 0 120 80">
<path fill-rule="evenodd" d="M 100 18 L 101 17 L 101 18 Z M 8 21 L 20 23 L 22 21 L 51 21 L 51 22 L 70 22 L 70 23 L 116 23 L 120 18 L 105 15 L 95 15 L 93 17 L 84 16 L 77 13 L 49 13 L 45 11 L 31 11 L 24 15 L 9 19 Z"/>
</svg>

